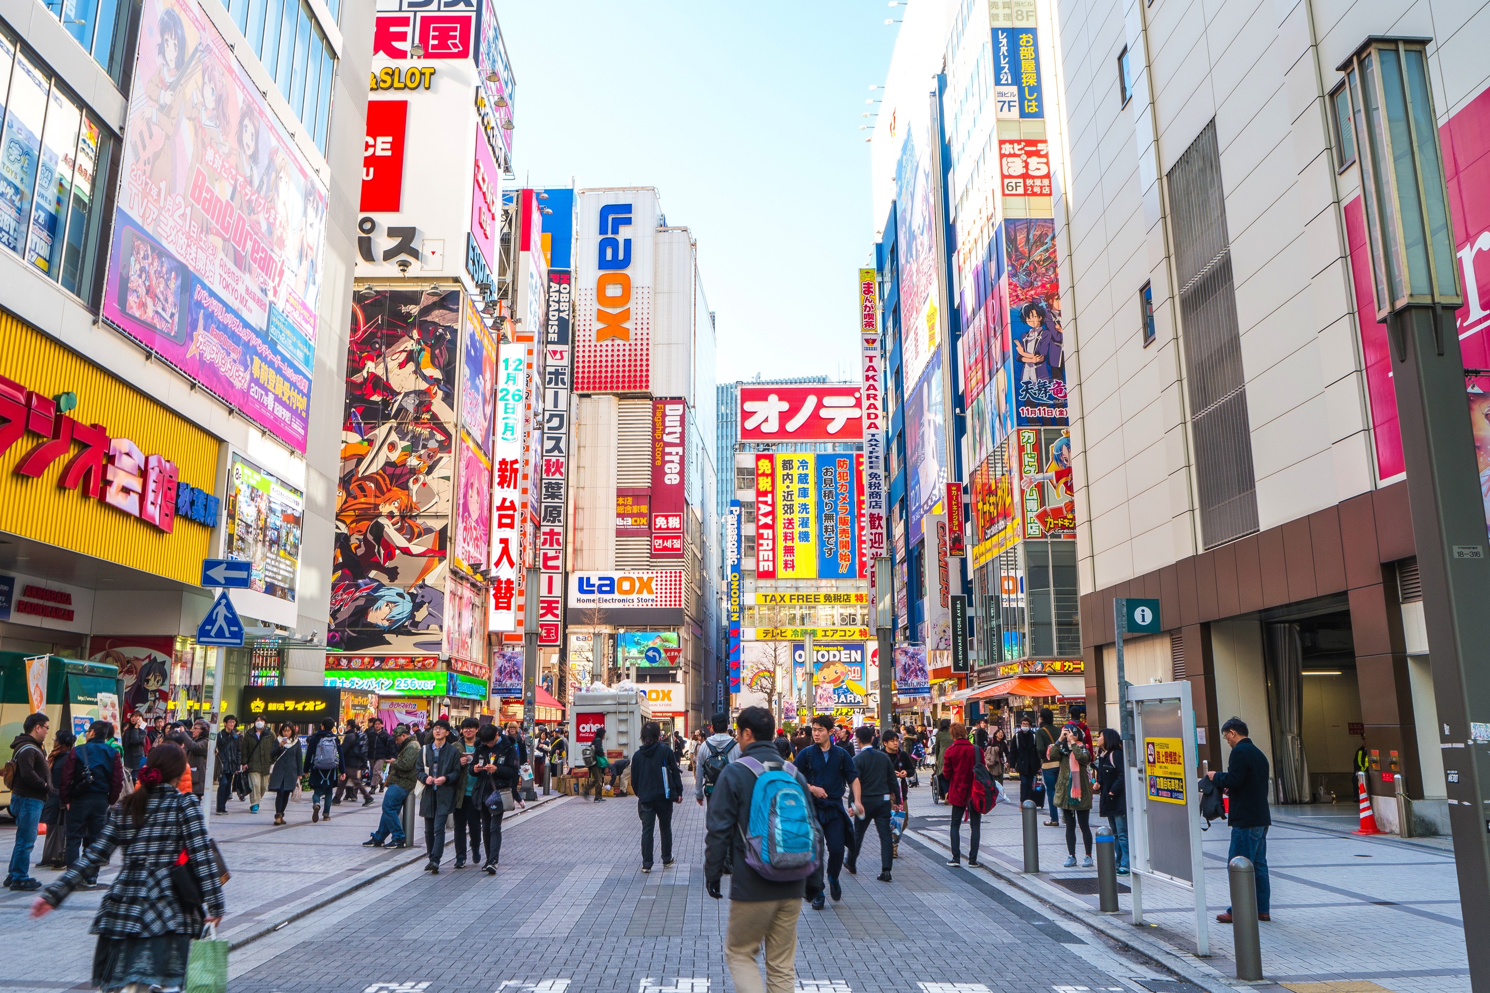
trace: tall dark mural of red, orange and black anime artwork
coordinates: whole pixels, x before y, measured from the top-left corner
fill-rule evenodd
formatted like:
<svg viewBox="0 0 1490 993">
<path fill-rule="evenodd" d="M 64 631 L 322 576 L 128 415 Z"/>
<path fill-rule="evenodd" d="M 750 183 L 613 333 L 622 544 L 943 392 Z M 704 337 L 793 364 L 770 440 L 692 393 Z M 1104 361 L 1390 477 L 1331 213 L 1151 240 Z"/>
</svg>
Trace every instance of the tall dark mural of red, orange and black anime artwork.
<svg viewBox="0 0 1490 993">
<path fill-rule="evenodd" d="M 359 290 L 326 642 L 443 651 L 460 293 Z"/>
</svg>

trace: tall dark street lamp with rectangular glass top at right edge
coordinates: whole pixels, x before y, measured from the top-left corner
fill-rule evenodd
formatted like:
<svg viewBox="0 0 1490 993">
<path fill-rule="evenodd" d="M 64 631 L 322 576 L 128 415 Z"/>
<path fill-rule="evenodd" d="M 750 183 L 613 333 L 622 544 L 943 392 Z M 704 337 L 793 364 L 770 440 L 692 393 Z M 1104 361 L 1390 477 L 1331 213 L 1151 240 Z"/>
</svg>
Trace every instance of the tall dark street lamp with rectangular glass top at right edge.
<svg viewBox="0 0 1490 993">
<path fill-rule="evenodd" d="M 1480 657 L 1490 643 L 1490 558 L 1454 322 L 1463 293 L 1427 77 L 1430 40 L 1368 37 L 1338 68 L 1360 149 L 1377 319 L 1392 338 L 1435 731 L 1450 767 L 1471 984 L 1483 989 L 1490 986 L 1490 667 Z"/>
</svg>

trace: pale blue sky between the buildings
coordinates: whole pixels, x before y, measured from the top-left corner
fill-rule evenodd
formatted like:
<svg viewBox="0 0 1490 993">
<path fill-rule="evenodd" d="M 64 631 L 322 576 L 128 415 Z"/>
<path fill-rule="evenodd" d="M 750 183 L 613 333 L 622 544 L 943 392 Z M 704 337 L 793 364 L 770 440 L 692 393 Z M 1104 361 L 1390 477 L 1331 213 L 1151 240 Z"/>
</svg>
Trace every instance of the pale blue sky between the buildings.
<svg viewBox="0 0 1490 993">
<path fill-rule="evenodd" d="M 864 100 L 884 0 L 496 0 L 524 185 L 656 186 L 718 314 L 718 378 L 858 378 Z"/>
</svg>

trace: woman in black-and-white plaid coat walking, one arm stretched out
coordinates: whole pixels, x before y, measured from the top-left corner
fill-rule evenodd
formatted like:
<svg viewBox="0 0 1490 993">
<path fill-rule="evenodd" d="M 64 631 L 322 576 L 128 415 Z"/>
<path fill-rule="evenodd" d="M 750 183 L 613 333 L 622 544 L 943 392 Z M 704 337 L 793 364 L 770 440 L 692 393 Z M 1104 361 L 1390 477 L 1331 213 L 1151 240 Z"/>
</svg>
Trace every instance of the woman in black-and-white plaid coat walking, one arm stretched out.
<svg viewBox="0 0 1490 993">
<path fill-rule="evenodd" d="M 139 786 L 110 811 L 98 840 L 31 905 L 33 917 L 51 913 L 85 877 L 97 875 L 115 849 L 121 850 L 124 866 L 89 929 L 98 935 L 92 966 L 98 990 L 182 989 L 192 938 L 201 936 L 204 925 L 222 920 L 222 881 L 210 868 L 201 802 L 177 791 L 185 771 L 180 746 L 162 741 L 150 749 Z M 195 869 L 206 907 L 183 905 L 171 886 L 171 866 L 182 850 Z"/>
</svg>

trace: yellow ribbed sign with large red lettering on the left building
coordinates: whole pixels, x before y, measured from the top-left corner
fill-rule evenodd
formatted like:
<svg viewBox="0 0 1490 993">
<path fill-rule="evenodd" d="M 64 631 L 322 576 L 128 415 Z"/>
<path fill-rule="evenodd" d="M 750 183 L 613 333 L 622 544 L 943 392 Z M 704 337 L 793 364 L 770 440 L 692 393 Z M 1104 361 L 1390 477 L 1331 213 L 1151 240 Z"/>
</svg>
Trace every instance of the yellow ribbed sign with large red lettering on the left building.
<svg viewBox="0 0 1490 993">
<path fill-rule="evenodd" d="M 195 585 L 219 441 L 3 311 L 0 339 L 0 531 Z"/>
</svg>

